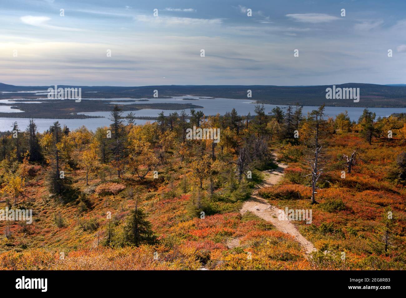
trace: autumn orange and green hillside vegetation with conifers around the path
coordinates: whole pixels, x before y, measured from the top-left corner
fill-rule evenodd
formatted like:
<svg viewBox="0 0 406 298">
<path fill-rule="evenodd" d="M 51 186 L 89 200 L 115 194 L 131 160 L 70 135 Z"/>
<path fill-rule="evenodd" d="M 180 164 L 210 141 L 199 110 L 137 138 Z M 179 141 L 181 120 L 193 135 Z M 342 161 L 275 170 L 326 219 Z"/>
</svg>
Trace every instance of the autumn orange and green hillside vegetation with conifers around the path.
<svg viewBox="0 0 406 298">
<path fill-rule="evenodd" d="M 96 131 L 55 122 L 39 133 L 31 120 L 0 134 L 0 209 L 33 211 L 30 225 L 0 221 L 2 269 L 405 269 L 406 115 L 365 109 L 351 122 L 324 106 L 257 105 L 136 125 L 121 113 Z M 193 126 L 220 129 L 220 141 L 187 139 Z M 259 195 L 313 210 L 311 224 L 294 222 L 311 257 L 239 212 L 275 159 L 289 166 Z"/>
</svg>

